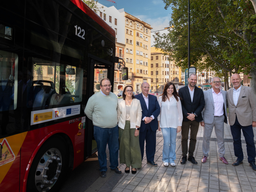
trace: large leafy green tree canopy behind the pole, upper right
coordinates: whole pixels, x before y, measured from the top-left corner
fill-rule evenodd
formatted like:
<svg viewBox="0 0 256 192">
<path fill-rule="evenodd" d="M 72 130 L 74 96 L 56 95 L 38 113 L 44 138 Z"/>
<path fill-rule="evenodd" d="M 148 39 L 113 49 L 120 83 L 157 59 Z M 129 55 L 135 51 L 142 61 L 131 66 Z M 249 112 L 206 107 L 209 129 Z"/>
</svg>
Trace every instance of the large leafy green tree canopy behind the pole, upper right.
<svg viewBox="0 0 256 192">
<path fill-rule="evenodd" d="M 172 8 L 168 34 L 154 36 L 156 48 L 187 68 L 188 1 L 163 0 Z M 256 2 L 193 0 L 190 2 L 191 65 L 212 69 L 225 78 L 231 73 L 249 74 L 256 94 Z M 227 81 L 227 79 L 226 79 Z"/>
</svg>

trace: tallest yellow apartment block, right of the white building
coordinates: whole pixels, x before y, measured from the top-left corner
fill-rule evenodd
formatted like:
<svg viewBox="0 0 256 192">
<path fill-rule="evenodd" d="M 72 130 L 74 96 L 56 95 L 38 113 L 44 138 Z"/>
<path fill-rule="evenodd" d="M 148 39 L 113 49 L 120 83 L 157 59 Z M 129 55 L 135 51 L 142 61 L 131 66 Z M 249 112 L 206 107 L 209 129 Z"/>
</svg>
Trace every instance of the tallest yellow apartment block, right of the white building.
<svg viewBox="0 0 256 192">
<path fill-rule="evenodd" d="M 124 12 L 125 21 L 125 63 L 128 67 L 129 80 L 134 92 L 141 92 L 140 85 L 150 81 L 150 37 L 151 27 L 148 23 Z"/>
</svg>

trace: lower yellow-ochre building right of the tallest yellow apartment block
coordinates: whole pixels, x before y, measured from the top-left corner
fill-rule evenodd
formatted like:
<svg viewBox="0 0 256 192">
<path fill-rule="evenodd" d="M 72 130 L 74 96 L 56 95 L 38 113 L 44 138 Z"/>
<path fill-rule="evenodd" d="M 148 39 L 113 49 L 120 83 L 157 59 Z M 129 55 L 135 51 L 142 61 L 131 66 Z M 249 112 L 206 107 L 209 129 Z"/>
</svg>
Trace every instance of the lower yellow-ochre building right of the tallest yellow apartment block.
<svg viewBox="0 0 256 192">
<path fill-rule="evenodd" d="M 169 61 L 169 55 L 164 55 L 159 49 L 151 47 L 150 55 L 150 76 L 151 92 L 162 92 L 164 85 L 168 82 L 178 87 L 181 80 L 181 68 L 175 65 L 174 61 Z"/>
</svg>

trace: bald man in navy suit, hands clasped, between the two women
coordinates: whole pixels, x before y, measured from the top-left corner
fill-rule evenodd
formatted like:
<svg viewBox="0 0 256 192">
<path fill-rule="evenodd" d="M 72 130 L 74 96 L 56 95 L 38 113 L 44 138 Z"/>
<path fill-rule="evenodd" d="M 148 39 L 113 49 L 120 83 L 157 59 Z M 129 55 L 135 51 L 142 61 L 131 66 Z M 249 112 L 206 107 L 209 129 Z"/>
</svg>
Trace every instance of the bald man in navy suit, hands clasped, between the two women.
<svg viewBox="0 0 256 192">
<path fill-rule="evenodd" d="M 146 140 L 147 164 L 157 166 L 154 162 L 154 156 L 156 153 L 156 130 L 158 129 L 157 117 L 160 114 L 160 106 L 156 96 L 148 94 L 150 86 L 147 82 L 143 82 L 140 88 L 142 92 L 135 95 L 135 98 L 140 100 L 142 108 L 139 135 L 141 161 L 144 155 L 144 143 Z"/>
</svg>

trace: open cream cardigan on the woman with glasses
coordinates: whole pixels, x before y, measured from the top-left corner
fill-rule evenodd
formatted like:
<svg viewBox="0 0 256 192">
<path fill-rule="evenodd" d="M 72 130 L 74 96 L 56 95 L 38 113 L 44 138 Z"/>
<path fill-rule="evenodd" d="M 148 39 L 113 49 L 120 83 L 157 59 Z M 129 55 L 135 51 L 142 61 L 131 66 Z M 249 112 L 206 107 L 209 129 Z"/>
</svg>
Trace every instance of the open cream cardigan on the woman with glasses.
<svg viewBox="0 0 256 192">
<path fill-rule="evenodd" d="M 140 100 L 133 99 L 130 109 L 130 119 L 131 119 L 131 128 L 136 128 L 136 126 L 140 127 L 142 117 L 142 109 L 140 106 Z M 124 129 L 126 119 L 126 104 L 125 100 L 119 100 L 117 106 L 117 122 L 118 127 Z"/>
</svg>

